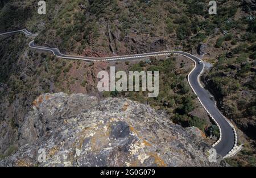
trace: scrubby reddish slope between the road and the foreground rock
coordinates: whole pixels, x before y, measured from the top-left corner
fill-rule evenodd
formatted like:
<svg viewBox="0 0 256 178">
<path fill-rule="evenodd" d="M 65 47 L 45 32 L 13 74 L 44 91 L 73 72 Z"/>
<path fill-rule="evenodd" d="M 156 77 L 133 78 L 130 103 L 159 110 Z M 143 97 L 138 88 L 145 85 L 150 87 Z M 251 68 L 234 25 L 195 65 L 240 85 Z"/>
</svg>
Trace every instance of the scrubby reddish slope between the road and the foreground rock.
<svg viewBox="0 0 256 178">
<path fill-rule="evenodd" d="M 102 94 L 97 92 L 96 76 L 102 70 L 109 72 L 110 66 L 115 66 L 117 71 L 140 71 L 148 67 L 154 69 L 162 66 L 161 70 L 164 69 L 165 72 L 160 75 L 160 85 L 165 89 L 162 88 L 157 100 L 149 100 L 143 97 L 143 93 L 138 92 L 131 92 L 132 95 L 126 97 L 148 103 L 156 110 L 167 110 L 168 119 L 175 120 L 175 123 L 185 127 L 196 126 L 204 132 L 205 128 L 212 126 L 207 113 L 186 84 L 185 76 L 191 71 L 192 62 L 183 57 L 151 59 L 151 64 L 147 68 L 146 63 L 142 61 L 88 64 L 84 61 L 58 59 L 53 55 L 31 50 L 27 47 L 31 39 L 23 34 L 1 36 L 0 39 L 0 56 L 3 64 L 0 68 L 4 71 L 0 74 L 0 159 L 14 154 L 18 149 L 18 130 L 25 122 L 24 115 L 31 110 L 32 101 L 37 96 L 41 93 L 65 92 L 88 93 L 100 98 Z M 162 78 L 166 80 L 163 81 Z M 166 85 L 167 83 L 172 84 L 171 88 Z M 165 91 L 168 91 L 168 97 Z M 125 97 L 125 93 L 123 94 L 120 97 Z M 183 103 L 185 98 L 187 102 Z M 170 104 L 167 105 L 167 102 Z M 181 111 L 183 108 L 187 108 L 185 113 L 180 113 L 180 116 L 175 114 L 175 110 Z M 208 139 L 209 144 L 217 139 L 215 136 L 212 139 L 205 137 L 206 135 L 204 139 Z"/>
</svg>

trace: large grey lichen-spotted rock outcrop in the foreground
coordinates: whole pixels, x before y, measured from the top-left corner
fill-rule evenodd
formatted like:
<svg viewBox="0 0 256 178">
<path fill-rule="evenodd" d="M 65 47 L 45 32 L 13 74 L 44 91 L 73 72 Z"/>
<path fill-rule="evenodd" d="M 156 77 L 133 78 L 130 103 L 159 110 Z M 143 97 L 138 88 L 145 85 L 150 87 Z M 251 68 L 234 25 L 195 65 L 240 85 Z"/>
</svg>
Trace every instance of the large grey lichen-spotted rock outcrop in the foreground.
<svg viewBox="0 0 256 178">
<path fill-rule="evenodd" d="M 19 150 L 0 165 L 209 166 L 210 149 L 164 113 L 138 102 L 83 94 L 44 94 L 19 130 Z M 196 139 L 192 139 L 197 135 Z M 46 151 L 40 163 L 38 151 Z M 39 159 L 40 160 L 40 159 Z"/>
</svg>

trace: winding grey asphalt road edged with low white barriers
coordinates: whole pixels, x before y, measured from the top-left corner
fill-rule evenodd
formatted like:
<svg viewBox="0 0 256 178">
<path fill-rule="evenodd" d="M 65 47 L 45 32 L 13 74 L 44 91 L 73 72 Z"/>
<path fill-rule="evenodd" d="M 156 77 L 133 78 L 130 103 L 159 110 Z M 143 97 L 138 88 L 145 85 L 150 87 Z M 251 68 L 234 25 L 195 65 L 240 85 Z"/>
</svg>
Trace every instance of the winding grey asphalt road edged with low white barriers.
<svg viewBox="0 0 256 178">
<path fill-rule="evenodd" d="M 17 30 L 17 31 L 11 31 L 6 32 L 0 35 L 9 35 L 13 34 L 15 32 L 24 32 L 27 36 L 37 36 L 37 34 L 32 34 L 31 32 L 27 31 L 26 29 L 23 30 Z M 200 73 L 204 69 L 203 64 L 199 64 L 200 59 L 196 56 L 193 56 L 187 52 L 183 51 L 162 51 L 162 52 L 151 52 L 151 53 L 143 53 L 143 54 L 137 54 L 137 55 L 127 55 L 127 56 L 114 56 L 114 57 L 83 57 L 83 56 L 69 56 L 62 54 L 59 49 L 57 48 L 49 48 L 49 47 L 42 47 L 35 45 L 34 40 L 32 40 L 29 43 L 30 48 L 39 49 L 41 51 L 49 51 L 52 52 L 53 55 L 64 58 L 64 59 L 77 59 L 77 60 L 84 60 L 84 61 L 117 61 L 117 60 L 134 60 L 134 59 L 143 59 L 144 57 L 150 57 L 150 56 L 166 56 L 171 55 L 172 53 L 176 55 L 181 55 L 184 57 L 187 57 L 188 59 L 191 59 L 195 63 L 195 68 L 189 73 L 188 75 L 188 82 L 189 85 L 191 85 L 191 88 L 193 89 L 193 92 L 195 92 L 197 98 L 207 110 L 210 117 L 213 119 L 214 122 L 216 122 L 217 126 L 220 129 L 220 139 L 213 145 L 213 147 L 216 149 L 217 153 L 225 156 L 229 153 L 230 150 L 234 146 L 236 146 L 236 132 L 233 129 L 232 123 L 228 121 L 220 112 L 220 110 L 217 109 L 215 102 L 210 99 L 210 93 L 201 87 L 199 76 Z"/>
</svg>

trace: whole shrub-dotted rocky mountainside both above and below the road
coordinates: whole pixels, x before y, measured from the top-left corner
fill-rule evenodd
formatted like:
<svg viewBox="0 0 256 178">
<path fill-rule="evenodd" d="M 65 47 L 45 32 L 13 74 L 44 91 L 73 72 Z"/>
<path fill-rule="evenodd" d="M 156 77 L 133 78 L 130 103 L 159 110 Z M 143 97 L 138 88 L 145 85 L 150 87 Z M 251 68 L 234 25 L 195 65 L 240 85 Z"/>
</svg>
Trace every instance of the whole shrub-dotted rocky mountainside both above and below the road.
<svg viewBox="0 0 256 178">
<path fill-rule="evenodd" d="M 198 53 L 203 60 L 217 64 L 205 84 L 213 94 L 218 91 L 214 96 L 219 106 L 224 105 L 222 111 L 246 133 L 240 132 L 238 138 L 246 149 L 232 165 L 255 165 L 255 102 L 250 100 L 255 90 L 255 0 L 217 1 L 217 15 L 208 14 L 208 2 L 54 0 L 47 1 L 47 14 L 39 15 L 36 0 L 1 0 L 0 32 L 27 28 L 39 34 L 37 44 L 59 47 L 61 52 L 74 55 L 111 56 L 167 49 Z M 110 65 L 125 71 L 133 68 L 133 64 L 60 60 L 29 50 L 27 43 L 32 39 L 20 34 L 1 36 L 0 40 L 0 158 L 17 150 L 18 129 L 36 96 L 48 92 L 100 96 L 95 77 L 98 71 L 108 70 Z M 154 108 L 166 109 L 176 123 L 187 126 L 192 122 L 205 130 L 208 118 L 196 102 L 191 102 L 195 99 L 176 97 L 182 90 L 183 98 L 190 92 L 184 84 L 189 65 L 182 62 L 164 73 L 168 78 L 162 80 L 161 98 L 151 103 Z M 219 79 L 223 81 L 221 87 Z M 167 80 L 178 82 L 170 89 Z M 220 88 L 228 96 L 218 96 Z M 144 102 L 141 96 L 132 94 L 130 98 Z M 189 111 L 197 111 L 176 114 L 176 109 L 185 105 Z"/>
</svg>

